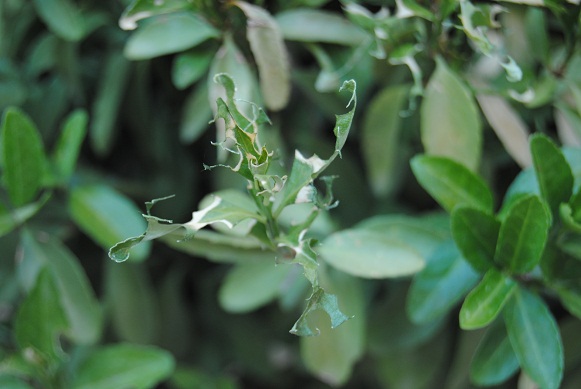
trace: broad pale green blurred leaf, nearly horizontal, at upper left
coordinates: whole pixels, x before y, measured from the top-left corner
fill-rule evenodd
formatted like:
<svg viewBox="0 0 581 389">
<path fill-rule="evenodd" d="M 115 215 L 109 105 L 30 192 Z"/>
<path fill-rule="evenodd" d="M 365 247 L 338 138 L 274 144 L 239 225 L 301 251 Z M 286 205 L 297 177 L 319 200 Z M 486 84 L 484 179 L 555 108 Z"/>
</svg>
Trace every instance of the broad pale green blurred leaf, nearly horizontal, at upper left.
<svg viewBox="0 0 581 389">
<path fill-rule="evenodd" d="M 146 20 L 131 35 L 125 46 L 125 56 L 143 60 L 190 49 L 220 32 L 192 12 L 175 12 Z"/>
</svg>

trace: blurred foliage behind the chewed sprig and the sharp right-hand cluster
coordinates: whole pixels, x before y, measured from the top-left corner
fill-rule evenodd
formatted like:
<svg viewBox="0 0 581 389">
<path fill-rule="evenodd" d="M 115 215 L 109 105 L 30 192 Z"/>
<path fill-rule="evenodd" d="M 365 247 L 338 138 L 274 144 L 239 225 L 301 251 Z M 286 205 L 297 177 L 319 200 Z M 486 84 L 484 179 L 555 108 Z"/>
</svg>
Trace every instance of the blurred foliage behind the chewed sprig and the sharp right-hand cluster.
<svg viewBox="0 0 581 389">
<path fill-rule="evenodd" d="M 568 147 L 577 182 L 579 14 L 571 0 L 0 2 L 0 386 L 536 387 L 502 321 L 459 329 L 480 275 L 409 160 L 425 152 L 477 172 L 498 210 L 539 132 Z M 311 230 L 321 283 L 354 318 L 331 330 L 313 317 L 318 337 L 288 333 L 307 284 L 270 252 L 201 231 L 196 244 L 107 257 L 145 230 L 151 199 L 175 194 L 155 214 L 185 222 L 208 193 L 244 190 L 204 167 L 226 158 L 212 145 L 224 129 L 209 123 L 222 72 L 267 110 L 261 136 L 282 164 L 294 149 L 332 154 L 338 88 L 357 82 L 329 168 L 340 205 Z M 546 387 L 563 371 L 563 388 L 581 379 L 578 232 L 560 299 L 535 284 L 565 355 Z"/>
</svg>

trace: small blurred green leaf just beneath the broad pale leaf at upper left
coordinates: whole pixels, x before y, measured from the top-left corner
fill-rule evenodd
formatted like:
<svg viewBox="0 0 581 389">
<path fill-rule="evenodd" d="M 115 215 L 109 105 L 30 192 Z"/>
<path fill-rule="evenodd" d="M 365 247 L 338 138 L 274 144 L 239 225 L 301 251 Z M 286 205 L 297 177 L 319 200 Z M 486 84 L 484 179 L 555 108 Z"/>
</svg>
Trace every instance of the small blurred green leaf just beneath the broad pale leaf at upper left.
<svg viewBox="0 0 581 389">
<path fill-rule="evenodd" d="M 175 87 L 185 89 L 198 81 L 210 67 L 214 53 L 214 50 L 196 47 L 176 55 L 171 72 L 171 79 Z"/>
</svg>

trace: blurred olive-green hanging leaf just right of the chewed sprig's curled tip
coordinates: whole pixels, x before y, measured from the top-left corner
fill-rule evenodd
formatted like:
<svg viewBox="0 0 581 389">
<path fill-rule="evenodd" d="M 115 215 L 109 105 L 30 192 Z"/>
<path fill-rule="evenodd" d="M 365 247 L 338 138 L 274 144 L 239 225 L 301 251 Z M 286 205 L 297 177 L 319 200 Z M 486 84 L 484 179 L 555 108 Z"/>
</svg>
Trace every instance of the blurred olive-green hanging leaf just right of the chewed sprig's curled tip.
<svg viewBox="0 0 581 389">
<path fill-rule="evenodd" d="M 385 88 L 365 111 L 361 146 L 368 181 L 378 197 L 390 194 L 397 185 L 402 162 L 399 153 L 401 110 L 408 92 L 407 85 Z"/>
</svg>

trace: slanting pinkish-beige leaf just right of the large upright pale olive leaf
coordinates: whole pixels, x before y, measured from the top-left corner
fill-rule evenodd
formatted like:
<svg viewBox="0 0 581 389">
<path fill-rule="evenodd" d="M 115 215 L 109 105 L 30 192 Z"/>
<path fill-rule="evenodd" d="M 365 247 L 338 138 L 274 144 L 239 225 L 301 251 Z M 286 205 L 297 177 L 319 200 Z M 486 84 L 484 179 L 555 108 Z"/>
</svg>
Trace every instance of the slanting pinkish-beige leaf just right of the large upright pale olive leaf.
<svg viewBox="0 0 581 389">
<path fill-rule="evenodd" d="M 515 110 L 501 97 L 479 94 L 476 96 L 486 120 L 502 142 L 506 151 L 525 168 L 532 164 L 529 150 L 529 130 Z"/>
</svg>

